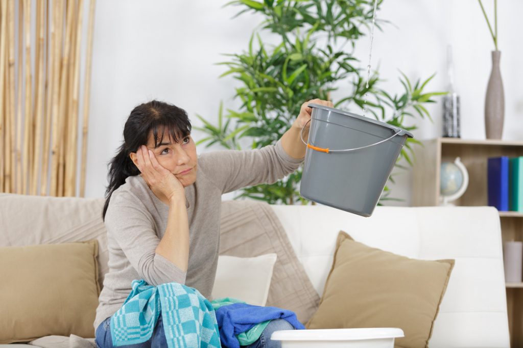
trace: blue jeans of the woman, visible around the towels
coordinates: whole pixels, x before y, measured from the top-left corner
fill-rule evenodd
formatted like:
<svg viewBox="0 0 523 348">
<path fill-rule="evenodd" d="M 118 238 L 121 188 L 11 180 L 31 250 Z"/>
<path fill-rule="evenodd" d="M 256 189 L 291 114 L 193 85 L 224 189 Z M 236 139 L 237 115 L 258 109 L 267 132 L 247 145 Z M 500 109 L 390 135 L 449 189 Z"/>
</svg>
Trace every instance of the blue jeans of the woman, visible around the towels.
<svg viewBox="0 0 523 348">
<path fill-rule="evenodd" d="M 280 348 L 281 341 L 271 341 L 272 332 L 279 330 L 294 330 L 294 327 L 285 319 L 275 319 L 265 327 L 259 339 L 243 346 L 246 348 Z M 111 317 L 105 319 L 96 329 L 96 344 L 99 348 L 113 348 L 111 339 Z M 162 316 L 158 316 L 156 327 L 149 341 L 139 344 L 122 345 L 124 348 L 167 348 L 167 340 L 163 328 Z"/>
</svg>

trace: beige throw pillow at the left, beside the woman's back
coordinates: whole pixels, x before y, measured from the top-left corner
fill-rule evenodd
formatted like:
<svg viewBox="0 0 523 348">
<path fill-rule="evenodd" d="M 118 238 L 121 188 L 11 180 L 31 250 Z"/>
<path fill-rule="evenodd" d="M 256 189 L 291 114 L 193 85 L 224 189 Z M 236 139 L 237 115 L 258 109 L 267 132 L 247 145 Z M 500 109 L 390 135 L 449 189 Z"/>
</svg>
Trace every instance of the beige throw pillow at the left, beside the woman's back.
<svg viewBox="0 0 523 348">
<path fill-rule="evenodd" d="M 98 242 L 0 248 L 0 344 L 95 335 Z"/>
</svg>

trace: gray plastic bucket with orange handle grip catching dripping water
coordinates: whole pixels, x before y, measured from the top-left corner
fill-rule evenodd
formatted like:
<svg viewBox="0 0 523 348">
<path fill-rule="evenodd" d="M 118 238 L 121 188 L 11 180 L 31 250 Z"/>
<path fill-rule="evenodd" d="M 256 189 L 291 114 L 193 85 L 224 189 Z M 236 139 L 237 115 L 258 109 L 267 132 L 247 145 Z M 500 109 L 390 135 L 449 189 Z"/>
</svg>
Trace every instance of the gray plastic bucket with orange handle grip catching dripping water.
<svg viewBox="0 0 523 348">
<path fill-rule="evenodd" d="M 300 195 L 370 217 L 407 137 L 413 135 L 350 112 L 309 106 L 312 122 Z"/>
</svg>

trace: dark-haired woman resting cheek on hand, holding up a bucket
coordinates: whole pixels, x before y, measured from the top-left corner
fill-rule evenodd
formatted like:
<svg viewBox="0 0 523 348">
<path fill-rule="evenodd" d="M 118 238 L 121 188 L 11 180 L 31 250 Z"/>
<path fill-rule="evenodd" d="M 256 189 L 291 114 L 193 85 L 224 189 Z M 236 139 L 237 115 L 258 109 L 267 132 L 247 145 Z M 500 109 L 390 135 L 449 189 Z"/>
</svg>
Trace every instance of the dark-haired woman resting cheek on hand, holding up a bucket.
<svg viewBox="0 0 523 348">
<path fill-rule="evenodd" d="M 300 133 L 311 118 L 303 103 L 292 127 L 276 145 L 251 151 L 196 154 L 187 113 L 151 101 L 134 108 L 123 144 L 110 162 L 104 206 L 109 272 L 100 293 L 94 326 L 100 348 L 112 347 L 110 317 L 131 292 L 131 282 L 177 282 L 210 298 L 219 252 L 221 195 L 274 183 L 295 171 L 305 156 Z M 270 334 L 293 327 L 273 320 L 249 347 L 276 347 Z M 166 346 L 161 316 L 151 342 Z"/>
</svg>

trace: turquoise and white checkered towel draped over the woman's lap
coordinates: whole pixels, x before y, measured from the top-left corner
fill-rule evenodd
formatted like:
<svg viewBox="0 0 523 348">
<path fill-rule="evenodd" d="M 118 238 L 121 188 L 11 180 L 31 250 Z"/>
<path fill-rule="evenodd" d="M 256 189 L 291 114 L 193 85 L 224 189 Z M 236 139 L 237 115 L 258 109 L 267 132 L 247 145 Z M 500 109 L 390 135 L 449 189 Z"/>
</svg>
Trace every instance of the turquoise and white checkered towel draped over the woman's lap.
<svg viewBox="0 0 523 348">
<path fill-rule="evenodd" d="M 214 309 L 198 290 L 174 282 L 152 286 L 144 280 L 133 280 L 126 302 L 111 317 L 113 346 L 151 339 L 160 313 L 169 348 L 220 348 Z"/>
</svg>

